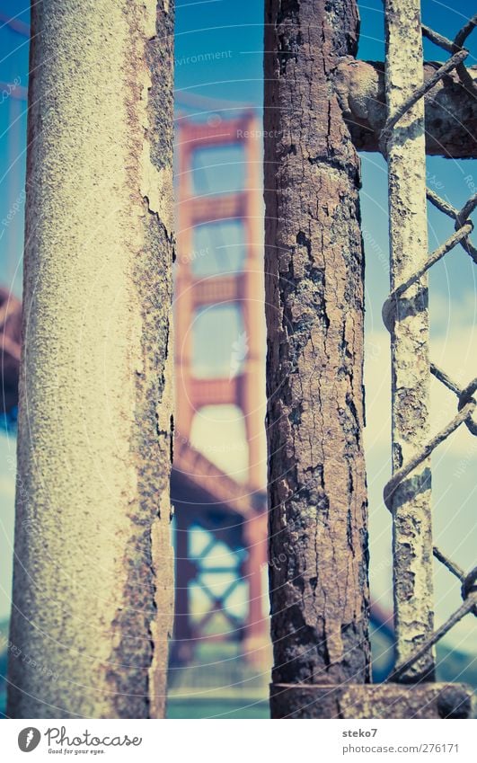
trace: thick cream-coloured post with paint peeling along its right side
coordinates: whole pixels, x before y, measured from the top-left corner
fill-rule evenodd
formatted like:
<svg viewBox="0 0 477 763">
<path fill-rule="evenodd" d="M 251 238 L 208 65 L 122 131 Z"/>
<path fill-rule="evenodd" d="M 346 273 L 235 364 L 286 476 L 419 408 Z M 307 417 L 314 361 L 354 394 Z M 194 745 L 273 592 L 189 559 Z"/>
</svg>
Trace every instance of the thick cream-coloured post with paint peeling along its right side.
<svg viewBox="0 0 477 763">
<path fill-rule="evenodd" d="M 7 712 L 161 717 L 173 4 L 40 0 L 31 30 Z"/>
</svg>

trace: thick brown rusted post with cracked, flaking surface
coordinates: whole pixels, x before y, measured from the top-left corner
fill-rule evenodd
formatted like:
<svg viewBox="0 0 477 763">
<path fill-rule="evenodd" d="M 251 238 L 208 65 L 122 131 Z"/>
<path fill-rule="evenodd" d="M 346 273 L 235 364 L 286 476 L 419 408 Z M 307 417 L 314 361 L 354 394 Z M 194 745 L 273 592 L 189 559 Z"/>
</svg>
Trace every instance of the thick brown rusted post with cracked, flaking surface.
<svg viewBox="0 0 477 763">
<path fill-rule="evenodd" d="M 270 568 L 272 679 L 362 683 L 360 178 L 331 84 L 356 53 L 358 13 L 353 0 L 267 0 L 265 24 L 269 553 L 284 559 Z"/>
</svg>

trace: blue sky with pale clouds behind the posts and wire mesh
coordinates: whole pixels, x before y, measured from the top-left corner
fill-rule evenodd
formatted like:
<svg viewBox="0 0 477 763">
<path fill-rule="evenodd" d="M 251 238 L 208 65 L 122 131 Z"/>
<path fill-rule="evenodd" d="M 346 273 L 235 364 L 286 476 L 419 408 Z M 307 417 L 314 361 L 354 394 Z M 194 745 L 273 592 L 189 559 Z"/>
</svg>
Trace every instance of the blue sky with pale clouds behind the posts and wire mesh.
<svg viewBox="0 0 477 763">
<path fill-rule="evenodd" d="M 359 4 L 362 20 L 359 57 L 384 58 L 383 6 L 380 0 Z M 18 15 L 19 3 L 0 0 L 0 12 Z M 434 29 L 453 37 L 469 13 L 467 0 L 451 5 L 425 0 L 423 21 Z M 28 21 L 28 10 L 20 13 Z M 1 22 L 0 22 L 1 26 Z M 177 4 L 176 31 L 176 102 L 177 117 L 196 114 L 205 118 L 210 110 L 223 114 L 240 111 L 242 104 L 261 110 L 262 104 L 262 13 L 258 0 L 209 0 Z M 477 33 L 469 40 L 475 63 Z M 13 31 L 0 28 L 0 80 L 27 84 L 27 41 Z M 214 53 L 212 60 L 204 54 Z M 426 41 L 426 58 L 442 60 L 441 51 Z M 208 57 L 210 58 L 210 57 Z M 199 96 L 199 100 L 198 100 Z M 211 105 L 200 99 L 218 99 Z M 0 99 L 2 100 L 2 99 Z M 0 103 L 0 279 L 15 293 L 21 291 L 22 257 L 22 186 L 26 143 L 25 103 L 12 97 Z M 8 129 L 13 124 L 14 129 Z M 381 305 L 387 295 L 387 209 L 386 173 L 378 155 L 362 156 L 363 189 L 361 193 L 363 233 L 367 250 L 367 472 L 371 516 L 371 581 L 375 599 L 389 606 L 390 594 L 390 528 L 382 501 L 383 486 L 390 471 L 389 460 L 389 338 L 381 321 Z M 470 178 L 470 179 L 469 179 Z M 214 181 L 213 173 L 209 182 Z M 230 182 L 237 181 L 237 175 Z M 428 182 L 451 203 L 460 207 L 471 195 L 471 182 L 477 183 L 474 161 L 456 162 L 440 158 L 428 160 Z M 18 209 L 7 226 L 3 220 L 12 208 Z M 452 224 L 443 215 L 429 213 L 429 247 L 452 232 Z M 476 236 L 477 238 L 477 236 Z M 202 244 L 207 245 L 207 242 Z M 475 267 L 463 250 L 456 249 L 433 268 L 430 276 L 430 312 L 432 356 L 440 365 L 455 371 L 464 384 L 475 376 L 477 350 L 474 330 L 477 301 Z M 234 319 L 231 319 L 232 324 Z M 237 327 L 223 323 L 218 331 L 222 339 Z M 210 336 L 210 327 L 206 334 Z M 207 338 L 207 337 L 206 337 Z M 208 347 L 202 344 L 202 364 L 214 363 Z M 433 394 L 435 428 L 442 427 L 455 413 L 455 400 L 435 385 Z M 0 542 L 5 554 L 0 559 L 0 617 L 8 611 L 10 544 L 13 528 L 13 461 L 12 436 L 0 436 Z M 437 543 L 464 567 L 475 563 L 475 463 L 477 447 L 466 430 L 438 448 L 433 457 L 435 535 Z M 2 527 L 4 530 L 2 530 Z M 2 536 L 4 534 L 4 537 Z M 3 587 L 3 591 L 2 591 Z M 445 617 L 458 602 L 458 586 L 446 572 L 437 572 L 437 616 Z M 450 637 L 456 645 L 470 648 L 471 627 L 465 620 Z M 474 634 L 474 632 L 473 632 Z"/>
</svg>

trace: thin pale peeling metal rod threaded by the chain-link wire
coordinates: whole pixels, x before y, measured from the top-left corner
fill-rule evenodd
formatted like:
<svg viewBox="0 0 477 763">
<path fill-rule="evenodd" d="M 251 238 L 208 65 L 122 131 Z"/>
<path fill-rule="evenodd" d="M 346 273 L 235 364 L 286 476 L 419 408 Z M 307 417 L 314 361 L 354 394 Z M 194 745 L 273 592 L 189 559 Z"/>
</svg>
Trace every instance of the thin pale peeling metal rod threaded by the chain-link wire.
<svg viewBox="0 0 477 763">
<path fill-rule="evenodd" d="M 420 0 L 385 5 L 385 87 L 389 117 L 423 80 Z M 424 100 L 393 128 L 387 144 L 391 289 L 428 257 Z M 428 279 L 393 304 L 391 318 L 393 472 L 428 439 Z M 393 580 L 397 660 L 409 658 L 433 630 L 431 484 L 423 462 L 393 493 Z M 432 679 L 433 654 L 406 681 Z"/>
</svg>

